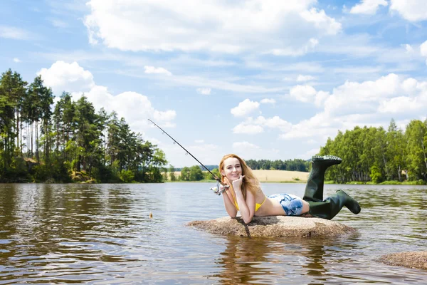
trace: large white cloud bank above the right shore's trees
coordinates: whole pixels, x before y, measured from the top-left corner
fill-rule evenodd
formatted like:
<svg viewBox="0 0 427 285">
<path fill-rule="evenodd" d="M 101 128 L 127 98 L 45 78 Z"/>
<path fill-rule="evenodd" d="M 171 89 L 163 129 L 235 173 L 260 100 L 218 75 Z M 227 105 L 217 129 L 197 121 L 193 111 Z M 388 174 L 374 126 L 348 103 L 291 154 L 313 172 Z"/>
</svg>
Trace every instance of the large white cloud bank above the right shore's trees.
<svg viewBox="0 0 427 285">
<path fill-rule="evenodd" d="M 401 118 L 399 125 L 404 126 L 406 118 L 425 115 L 423 107 L 426 105 L 427 81 L 404 78 L 394 73 L 375 81 L 348 81 L 333 89 L 322 112 L 291 125 L 280 138 L 315 138 L 321 142 L 334 137 L 337 130 L 349 130 L 357 125 L 386 128 L 391 118 Z"/>
</svg>

